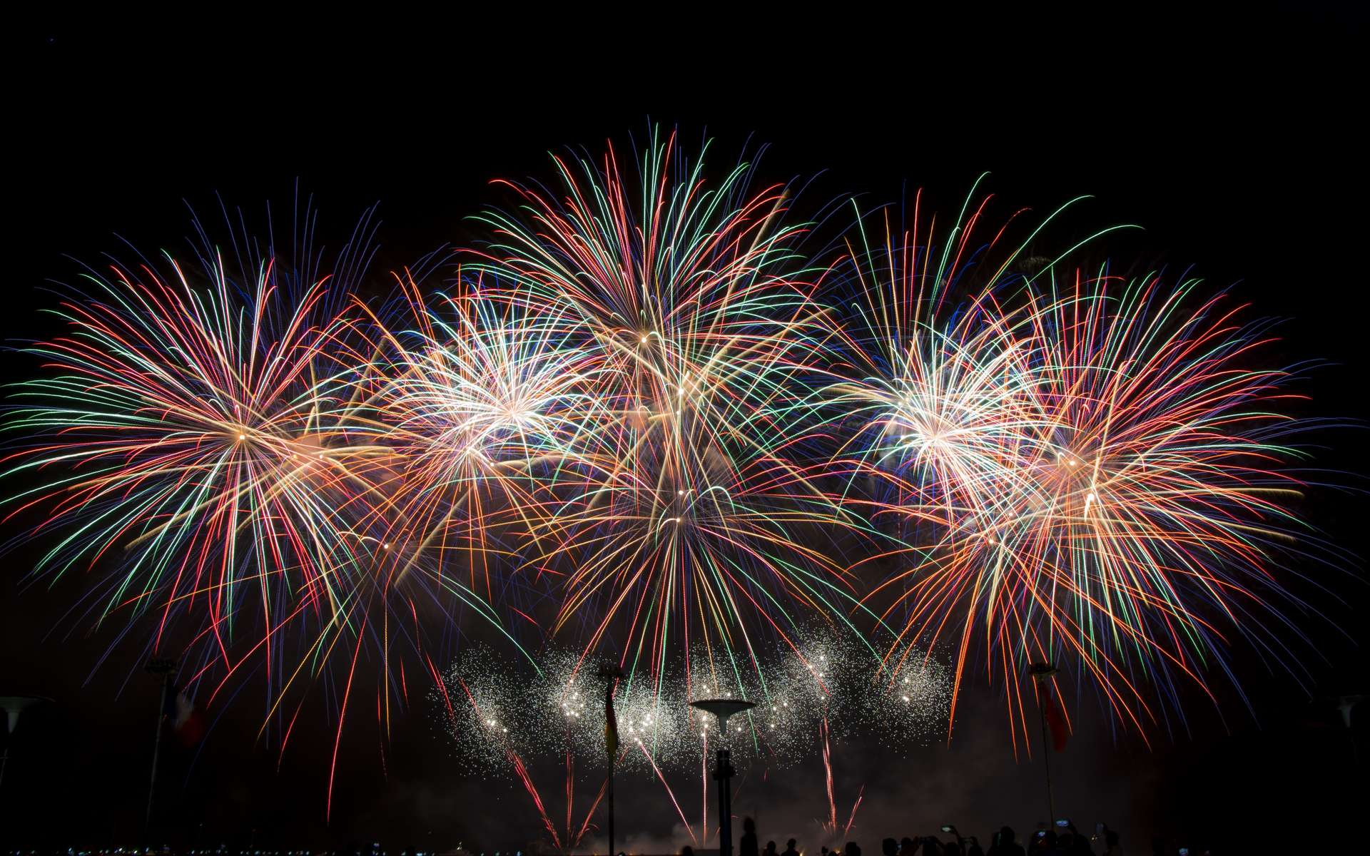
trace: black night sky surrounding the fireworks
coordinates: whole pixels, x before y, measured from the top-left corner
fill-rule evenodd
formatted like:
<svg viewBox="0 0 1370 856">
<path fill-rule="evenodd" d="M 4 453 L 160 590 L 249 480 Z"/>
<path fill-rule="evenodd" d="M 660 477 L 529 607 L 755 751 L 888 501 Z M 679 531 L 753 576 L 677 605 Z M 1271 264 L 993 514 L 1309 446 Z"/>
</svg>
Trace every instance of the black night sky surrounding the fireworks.
<svg viewBox="0 0 1370 856">
<path fill-rule="evenodd" d="M 1192 268 L 1212 288 L 1232 286 L 1252 315 L 1288 319 L 1266 359 L 1322 363 L 1300 385 L 1311 401 L 1299 407 L 1347 422 L 1366 416 L 1366 33 L 1358 14 L 1275 8 L 1240 22 L 1162 23 L 1138 15 L 1047 27 L 1051 38 L 991 38 L 964 25 L 943 33 L 929 21 L 908 23 L 907 44 L 878 21 L 808 23 L 806 33 L 762 22 L 703 27 L 693 38 L 681 33 L 680 44 L 614 37 L 606 49 L 589 36 L 559 48 L 551 33 L 533 38 L 475 22 L 349 37 L 247 22 L 179 32 L 163 21 L 119 34 L 62 18 L 33 23 L 5 111 L 4 338 L 51 333 L 37 310 L 55 300 L 45 282 L 73 279 L 67 256 L 96 260 L 121 247 L 115 236 L 145 251 L 184 249 L 186 204 L 218 223 L 216 193 L 262 223 L 266 203 L 288 210 L 299 186 L 321 211 L 321 238 L 334 245 L 378 203 L 369 279 L 381 289 L 386 271 L 471 242 L 463 218 L 510 201 L 489 179 L 551 181 L 548 152 L 597 153 L 606 140 L 626 152 L 655 122 L 678 127 L 686 145 L 712 137 L 715 170 L 744 148 L 769 145 L 760 177 L 807 182 L 808 210 L 851 194 L 870 207 L 897 203 L 925 188 L 951 211 L 986 170 L 1000 211 L 1044 212 L 1093 194 L 1062 244 L 1071 230 L 1144 226 L 1110 238 L 1107 253 L 1137 268 Z M 7 381 L 34 371 L 22 355 L 0 360 Z M 1312 489 L 1303 511 L 1363 555 L 1365 431 L 1317 440 L 1325 449 L 1314 466 L 1340 473 L 1333 481 L 1352 490 Z M 3 540 L 16 531 L 5 523 Z M 156 709 L 156 682 L 141 671 L 144 640 L 115 645 L 108 629 L 67 619 L 79 578 L 23 585 L 40 548 L 3 555 L 0 694 L 55 703 L 26 715 L 14 734 L 0 840 L 137 842 Z M 1108 822 L 1129 852 L 1144 852 L 1152 833 L 1238 846 L 1277 835 L 1345 841 L 1360 822 L 1354 809 L 1367 804 L 1370 714 L 1348 734 L 1328 698 L 1370 693 L 1370 596 L 1359 562 L 1347 572 L 1299 570 L 1314 579 L 1296 590 L 1321 612 L 1302 619 L 1317 646 L 1302 655 L 1308 690 L 1238 653 L 1256 716 L 1218 685 L 1222 716 L 1191 698 L 1188 733 L 1158 729 L 1149 746 L 1134 731 L 1115 731 L 1088 696 L 1077 733 L 1052 757 L 1058 814 L 1082 829 Z M 332 731 L 316 718 L 278 766 L 277 748 L 256 740 L 263 696 L 248 681 L 233 704 L 211 711 L 199 755 L 169 746 L 160 838 L 462 841 L 490 851 L 526 849 L 537 838 L 512 778 L 463 778 L 427 700 L 397 720 L 384 756 L 374 718 L 363 712 L 344 733 L 325 824 Z M 962 708 L 949 745 L 914 746 L 903 759 L 860 741 L 838 746 L 840 809 L 866 788 L 852 837 L 867 853 L 885 835 L 929 834 L 948 822 L 988 845 L 1000 823 L 1025 833 L 1044 818 L 1040 761 L 1015 760 L 1001 701 L 975 682 Z M 562 805 L 556 768 L 544 778 Z M 697 792 L 690 796 L 693 805 Z M 837 844 L 818 833 L 817 761 L 744 771 L 734 807 L 758 818 L 762 841 L 784 848 L 795 835 L 810 851 Z M 653 788 L 622 789 L 619 818 L 621 840 L 640 852 L 688 842 Z"/>
</svg>

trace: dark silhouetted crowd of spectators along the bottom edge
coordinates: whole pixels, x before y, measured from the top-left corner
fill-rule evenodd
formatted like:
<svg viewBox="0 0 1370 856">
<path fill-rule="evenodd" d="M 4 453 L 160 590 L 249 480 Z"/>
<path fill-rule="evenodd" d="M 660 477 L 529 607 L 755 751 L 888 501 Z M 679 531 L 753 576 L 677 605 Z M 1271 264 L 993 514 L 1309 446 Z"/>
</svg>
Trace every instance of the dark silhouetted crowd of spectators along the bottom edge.
<svg viewBox="0 0 1370 856">
<path fill-rule="evenodd" d="M 806 856 L 795 838 L 785 842 L 784 851 L 777 849 L 774 841 L 767 841 L 766 846 L 759 849 L 758 841 L 756 822 L 745 818 L 737 856 Z M 977 835 L 964 834 L 949 824 L 943 826 L 938 834 L 885 838 L 880 842 L 880 856 L 1121 856 L 1122 852 L 1115 830 L 1100 823 L 1093 833 L 1081 833 L 1070 820 L 1041 823 L 1023 838 L 1019 838 L 1012 827 L 1003 826 L 988 837 L 988 846 Z M 693 851 L 685 848 L 681 856 L 693 856 Z M 855 841 L 848 841 L 832 848 L 821 845 L 818 853 L 810 852 L 807 856 L 862 856 L 862 848 Z M 1152 842 L 1151 856 L 1203 856 L 1203 853 L 1191 853 L 1188 848 L 1171 848 L 1156 840 Z"/>
</svg>

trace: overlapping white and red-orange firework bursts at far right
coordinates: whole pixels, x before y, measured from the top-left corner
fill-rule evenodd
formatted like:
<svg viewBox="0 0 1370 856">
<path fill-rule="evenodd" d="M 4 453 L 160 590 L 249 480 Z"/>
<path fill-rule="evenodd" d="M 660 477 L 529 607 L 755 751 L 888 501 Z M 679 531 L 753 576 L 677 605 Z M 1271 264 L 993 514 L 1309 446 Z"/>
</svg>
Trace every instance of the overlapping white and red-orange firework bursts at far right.
<svg viewBox="0 0 1370 856">
<path fill-rule="evenodd" d="M 1219 299 L 1185 315 L 1196 281 L 1166 294 L 1154 274 L 1114 297 L 1112 278 L 1077 274 L 1060 294 L 1069 253 L 1032 277 L 1012 268 L 1026 242 L 991 262 L 1006 231 L 971 242 L 985 203 L 941 248 L 917 201 L 908 234 L 886 222 L 873 248 L 862 223 L 851 247 L 848 363 L 818 397 L 849 426 L 844 501 L 897 519 L 896 560 L 917 557 L 866 600 L 903 609 L 892 675 L 907 641 L 954 641 L 955 698 L 982 652 L 1015 746 L 1030 746 L 1029 663 L 1063 657 L 1145 735 L 1171 715 L 1148 686 L 1174 700 L 1181 675 L 1210 697 L 1211 674 L 1234 682 L 1225 648 L 1256 635 L 1254 614 L 1297 633 L 1278 605 L 1302 604 L 1271 574 L 1302 531 L 1285 507 L 1299 483 L 1271 468 L 1295 455 L 1278 440 L 1299 426 L 1273 411 L 1288 373 L 1243 368 L 1267 325 L 1237 325 Z"/>
</svg>

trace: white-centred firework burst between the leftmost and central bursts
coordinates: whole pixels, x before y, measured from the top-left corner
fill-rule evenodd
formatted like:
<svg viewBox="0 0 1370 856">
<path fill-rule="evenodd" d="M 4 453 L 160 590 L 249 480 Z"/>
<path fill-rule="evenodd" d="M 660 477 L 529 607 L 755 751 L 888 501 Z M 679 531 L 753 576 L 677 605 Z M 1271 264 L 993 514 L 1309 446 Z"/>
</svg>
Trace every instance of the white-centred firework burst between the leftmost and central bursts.
<svg viewBox="0 0 1370 856">
<path fill-rule="evenodd" d="M 379 516 L 397 575 L 460 567 L 488 600 L 525 541 L 567 494 L 593 479 L 595 394 L 603 368 L 569 342 L 564 319 L 458 275 L 458 290 L 423 297 L 410 278 L 408 329 L 375 319 L 375 411 L 388 460 L 374 478 L 392 497 Z M 500 592 L 503 594 L 503 592 Z"/>
</svg>

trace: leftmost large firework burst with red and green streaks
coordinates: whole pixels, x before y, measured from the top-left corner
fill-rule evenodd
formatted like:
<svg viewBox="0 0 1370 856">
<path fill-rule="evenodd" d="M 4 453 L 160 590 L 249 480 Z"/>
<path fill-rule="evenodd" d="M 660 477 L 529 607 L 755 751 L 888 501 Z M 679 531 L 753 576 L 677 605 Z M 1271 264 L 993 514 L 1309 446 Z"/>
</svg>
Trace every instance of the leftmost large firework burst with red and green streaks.
<svg viewBox="0 0 1370 856">
<path fill-rule="evenodd" d="M 207 288 L 166 267 L 90 275 L 59 312 L 70 333 L 30 348 L 49 377 L 19 385 L 10 429 L 40 440 L 10 474 L 60 475 L 10 503 L 47 512 L 37 533 L 66 533 L 36 572 L 118 559 L 101 620 L 156 614 L 155 649 L 189 619 L 206 667 L 232 671 L 244 637 L 278 663 L 282 626 L 333 625 L 366 589 L 340 533 L 375 449 L 336 408 L 340 322 L 322 285 L 288 289 L 270 262 L 241 286 L 218 256 Z"/>
</svg>

